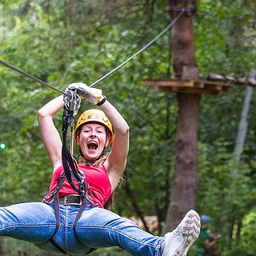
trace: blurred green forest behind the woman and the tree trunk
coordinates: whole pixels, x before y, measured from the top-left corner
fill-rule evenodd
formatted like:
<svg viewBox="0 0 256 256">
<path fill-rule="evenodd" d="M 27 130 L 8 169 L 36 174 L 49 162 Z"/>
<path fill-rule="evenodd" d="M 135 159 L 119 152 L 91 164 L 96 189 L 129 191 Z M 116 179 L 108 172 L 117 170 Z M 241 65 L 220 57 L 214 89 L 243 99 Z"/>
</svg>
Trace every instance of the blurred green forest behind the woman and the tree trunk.
<svg viewBox="0 0 256 256">
<path fill-rule="evenodd" d="M 248 77 L 256 68 L 255 1 L 200 0 L 194 42 L 200 75 Z M 162 0 L 0 1 L 0 59 L 65 90 L 71 82 L 90 85 L 150 42 L 170 22 Z M 142 86 L 146 78 L 172 78 L 170 33 L 98 83 L 130 125 L 125 181 L 114 211 L 139 218 L 157 216 L 161 234 L 170 203 L 178 107 L 176 95 Z M 58 93 L 0 66 L 0 205 L 41 201 L 52 174 L 38 131 L 37 111 Z M 222 235 L 220 255 L 256 255 L 256 96 L 246 142 L 234 161 L 246 85 L 202 96 L 198 120 L 196 210 L 210 216 Z M 90 104 L 82 102 L 80 111 Z M 56 118 L 61 129 L 62 114 Z M 188 177 L 189 178 L 189 177 Z M 230 211 L 236 216 L 231 219 Z M 1 255 L 43 255 L 34 246 L 1 238 Z M 104 249 L 94 255 L 126 255 Z M 92 254 L 92 255 L 93 255 Z M 193 255 L 193 249 L 191 250 Z"/>
</svg>

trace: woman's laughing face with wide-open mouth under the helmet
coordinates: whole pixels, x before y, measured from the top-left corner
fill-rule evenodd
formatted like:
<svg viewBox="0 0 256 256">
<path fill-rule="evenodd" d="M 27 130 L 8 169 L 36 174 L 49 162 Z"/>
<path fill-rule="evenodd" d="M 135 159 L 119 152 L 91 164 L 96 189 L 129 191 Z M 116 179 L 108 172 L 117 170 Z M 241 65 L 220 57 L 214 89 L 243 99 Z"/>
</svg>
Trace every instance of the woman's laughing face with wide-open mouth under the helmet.
<svg viewBox="0 0 256 256">
<path fill-rule="evenodd" d="M 87 123 L 82 126 L 78 137 L 82 154 L 88 160 L 96 160 L 107 143 L 106 128 L 98 123 Z"/>
</svg>

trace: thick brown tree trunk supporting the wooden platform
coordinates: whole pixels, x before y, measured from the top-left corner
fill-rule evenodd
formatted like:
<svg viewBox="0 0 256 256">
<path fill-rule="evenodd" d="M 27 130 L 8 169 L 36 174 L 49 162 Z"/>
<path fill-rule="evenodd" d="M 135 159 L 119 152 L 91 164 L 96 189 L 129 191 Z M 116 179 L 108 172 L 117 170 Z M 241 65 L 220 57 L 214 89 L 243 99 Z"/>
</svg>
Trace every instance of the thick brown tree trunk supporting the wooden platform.
<svg viewBox="0 0 256 256">
<path fill-rule="evenodd" d="M 190 8 L 195 1 L 170 0 L 169 4 L 170 15 L 174 18 L 178 14 L 177 8 Z M 194 57 L 193 14 L 191 12 L 186 11 L 174 24 L 170 42 L 175 78 L 198 80 L 198 67 Z M 194 208 L 198 190 L 199 102 L 199 94 L 178 93 L 174 182 L 164 233 L 174 230 L 186 212 Z"/>
</svg>

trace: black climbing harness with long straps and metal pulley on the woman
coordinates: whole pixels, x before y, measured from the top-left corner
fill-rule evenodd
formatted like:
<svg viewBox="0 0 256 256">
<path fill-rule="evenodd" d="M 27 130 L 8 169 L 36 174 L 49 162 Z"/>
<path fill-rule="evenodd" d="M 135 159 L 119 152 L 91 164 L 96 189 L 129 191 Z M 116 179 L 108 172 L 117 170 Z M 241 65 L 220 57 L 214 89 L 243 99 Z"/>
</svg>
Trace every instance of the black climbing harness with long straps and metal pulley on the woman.
<svg viewBox="0 0 256 256">
<path fill-rule="evenodd" d="M 62 252 L 62 254 L 67 254 L 65 250 L 62 250 L 60 246 L 56 242 L 54 242 L 54 235 L 58 232 L 58 228 L 60 225 L 60 214 L 59 214 L 59 203 L 60 199 L 62 199 L 63 204 L 68 203 L 69 198 L 75 198 L 78 199 L 78 202 L 72 203 L 73 205 L 80 206 L 78 210 L 78 214 L 76 218 L 74 219 L 73 229 L 74 234 L 75 233 L 75 227 L 76 224 L 81 217 L 82 211 L 85 209 L 87 203 L 90 203 L 91 206 L 98 206 L 96 203 L 94 203 L 87 191 L 90 192 L 90 194 L 93 194 L 93 192 L 90 190 L 89 184 L 86 182 L 86 176 L 83 174 L 82 171 L 79 170 L 78 163 L 74 160 L 72 157 L 72 154 L 70 154 L 70 150 L 68 150 L 66 145 L 66 134 L 68 131 L 69 126 L 74 126 L 74 117 L 78 112 L 78 109 L 81 105 L 81 98 L 77 94 L 77 90 L 66 90 L 66 94 L 64 95 L 64 106 L 63 106 L 63 114 L 62 114 L 62 166 L 64 170 L 62 171 L 62 174 L 58 178 L 58 185 L 52 191 L 50 194 L 46 195 L 45 198 L 43 198 L 42 202 L 47 202 L 50 198 L 53 198 L 54 201 L 54 214 L 56 218 L 56 227 L 54 230 L 54 234 L 50 238 L 50 242 L 59 250 Z M 73 130 L 73 129 L 72 129 Z M 70 140 L 73 140 L 73 134 L 71 131 L 71 138 Z M 73 142 L 70 143 L 73 145 Z M 73 151 L 73 148 L 71 146 L 71 150 Z M 70 186 L 73 188 L 74 191 L 76 191 L 78 194 L 73 195 L 66 195 L 64 198 L 58 198 L 58 191 L 62 188 L 62 184 L 65 180 L 68 180 L 70 183 Z M 74 185 L 74 180 L 78 182 L 78 187 Z M 90 253 L 91 249 L 88 253 Z M 87 253 L 87 254 L 88 254 Z"/>
</svg>

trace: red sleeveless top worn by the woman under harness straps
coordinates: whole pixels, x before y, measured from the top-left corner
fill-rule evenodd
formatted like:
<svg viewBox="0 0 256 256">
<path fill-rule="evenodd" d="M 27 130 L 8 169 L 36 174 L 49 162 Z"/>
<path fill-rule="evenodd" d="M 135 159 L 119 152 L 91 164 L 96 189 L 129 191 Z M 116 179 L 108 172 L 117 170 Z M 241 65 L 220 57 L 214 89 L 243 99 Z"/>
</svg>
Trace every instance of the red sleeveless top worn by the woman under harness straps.
<svg viewBox="0 0 256 256">
<path fill-rule="evenodd" d="M 98 203 L 100 208 L 104 208 L 107 200 L 110 198 L 111 194 L 111 184 L 110 179 L 107 174 L 106 168 L 102 166 L 83 166 L 78 165 L 79 170 L 81 170 L 86 175 L 86 182 L 90 186 L 90 191 L 87 190 L 91 200 L 95 203 Z M 59 166 L 53 174 L 53 177 L 50 182 L 50 191 L 49 194 L 55 189 L 58 185 L 58 178 L 64 170 L 63 166 Z M 74 185 L 78 187 L 78 182 L 73 180 Z M 73 190 L 68 182 L 67 178 L 62 183 L 62 188 L 58 191 L 58 196 L 63 197 L 67 194 L 78 194 L 77 191 Z"/>
</svg>

